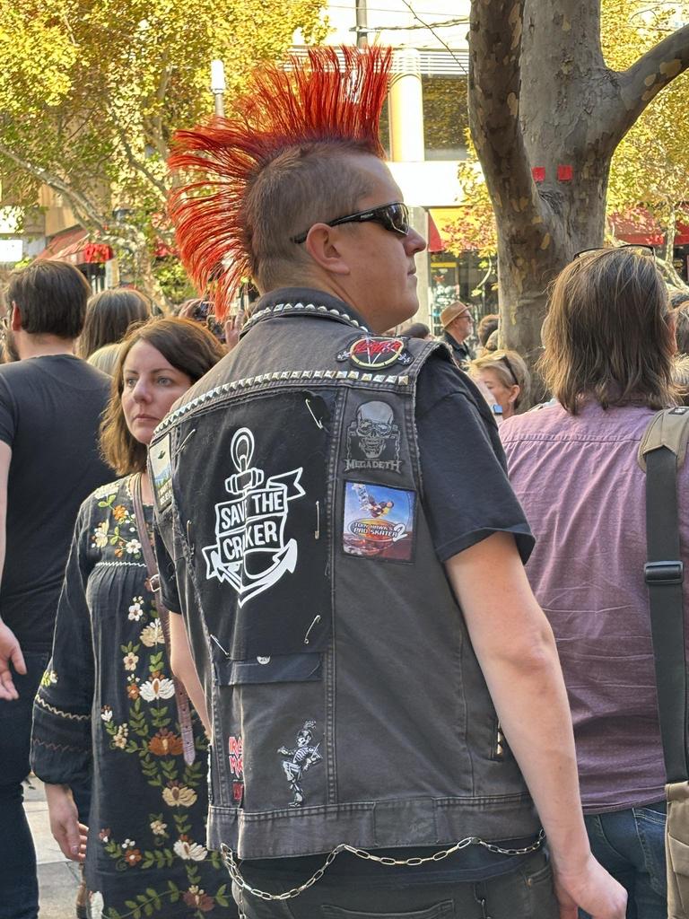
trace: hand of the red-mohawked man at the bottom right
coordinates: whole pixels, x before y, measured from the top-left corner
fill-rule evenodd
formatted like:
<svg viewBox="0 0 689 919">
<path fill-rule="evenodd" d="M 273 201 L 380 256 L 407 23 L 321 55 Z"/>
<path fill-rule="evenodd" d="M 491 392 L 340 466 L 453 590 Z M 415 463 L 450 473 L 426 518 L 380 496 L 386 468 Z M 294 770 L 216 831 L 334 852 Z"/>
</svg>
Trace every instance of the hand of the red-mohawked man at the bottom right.
<svg viewBox="0 0 689 919">
<path fill-rule="evenodd" d="M 581 871 L 559 871 L 553 867 L 559 919 L 577 919 L 578 907 L 593 919 L 625 919 L 627 891 L 611 878 L 593 856 Z"/>
</svg>

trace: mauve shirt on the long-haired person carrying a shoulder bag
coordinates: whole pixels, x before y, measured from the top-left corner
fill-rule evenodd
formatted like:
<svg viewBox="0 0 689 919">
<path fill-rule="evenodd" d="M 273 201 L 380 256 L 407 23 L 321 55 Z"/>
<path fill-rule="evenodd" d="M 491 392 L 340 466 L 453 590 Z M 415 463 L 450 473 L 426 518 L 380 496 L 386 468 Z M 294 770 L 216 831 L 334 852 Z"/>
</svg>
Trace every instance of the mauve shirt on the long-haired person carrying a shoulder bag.
<svg viewBox="0 0 689 919">
<path fill-rule="evenodd" d="M 644 582 L 646 482 L 637 463 L 653 414 L 587 403 L 571 415 L 552 404 L 501 427 L 510 479 L 537 538 L 526 573 L 558 642 L 586 813 L 664 795 Z M 689 461 L 678 494 L 686 563 Z"/>
</svg>

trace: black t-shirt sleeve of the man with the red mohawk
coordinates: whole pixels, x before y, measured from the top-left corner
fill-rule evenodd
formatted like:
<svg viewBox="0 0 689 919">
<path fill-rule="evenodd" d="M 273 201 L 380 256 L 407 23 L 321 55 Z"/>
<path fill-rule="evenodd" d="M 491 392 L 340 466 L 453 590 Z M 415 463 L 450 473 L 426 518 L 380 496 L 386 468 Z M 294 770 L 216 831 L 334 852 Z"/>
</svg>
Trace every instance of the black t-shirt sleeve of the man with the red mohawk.
<svg viewBox="0 0 689 919">
<path fill-rule="evenodd" d="M 497 425 L 469 377 L 442 357 L 430 357 L 419 375 L 416 428 L 424 511 L 439 560 L 506 532 L 526 562 L 535 540 L 507 479 Z"/>
</svg>

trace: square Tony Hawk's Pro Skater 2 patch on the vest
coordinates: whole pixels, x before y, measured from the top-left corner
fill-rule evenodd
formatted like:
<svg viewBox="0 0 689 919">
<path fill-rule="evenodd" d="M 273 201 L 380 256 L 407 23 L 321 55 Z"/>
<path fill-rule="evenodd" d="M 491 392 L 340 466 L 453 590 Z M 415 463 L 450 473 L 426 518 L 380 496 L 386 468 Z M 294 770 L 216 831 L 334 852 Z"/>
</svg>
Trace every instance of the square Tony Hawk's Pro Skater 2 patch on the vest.
<svg viewBox="0 0 689 919">
<path fill-rule="evenodd" d="M 412 562 L 415 510 L 414 492 L 344 482 L 344 552 L 389 562 Z"/>
</svg>

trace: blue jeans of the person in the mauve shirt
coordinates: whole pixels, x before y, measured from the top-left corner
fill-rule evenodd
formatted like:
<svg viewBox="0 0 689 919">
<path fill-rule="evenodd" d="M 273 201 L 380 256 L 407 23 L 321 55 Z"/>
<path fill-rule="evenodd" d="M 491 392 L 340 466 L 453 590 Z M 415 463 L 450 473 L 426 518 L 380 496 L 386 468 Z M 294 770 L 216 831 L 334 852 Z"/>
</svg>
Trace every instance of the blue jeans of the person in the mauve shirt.
<svg viewBox="0 0 689 919">
<path fill-rule="evenodd" d="M 627 890 L 627 919 L 667 919 L 665 812 L 662 800 L 584 818 L 593 855 Z"/>
</svg>

